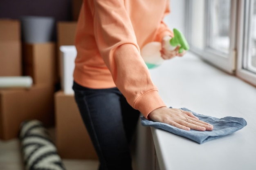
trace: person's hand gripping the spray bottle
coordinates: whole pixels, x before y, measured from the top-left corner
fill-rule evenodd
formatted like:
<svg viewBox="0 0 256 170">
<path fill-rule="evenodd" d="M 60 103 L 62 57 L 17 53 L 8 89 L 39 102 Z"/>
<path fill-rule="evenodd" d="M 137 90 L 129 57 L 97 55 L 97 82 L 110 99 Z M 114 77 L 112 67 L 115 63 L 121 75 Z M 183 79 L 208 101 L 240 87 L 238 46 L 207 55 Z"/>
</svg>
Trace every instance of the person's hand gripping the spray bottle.
<svg viewBox="0 0 256 170">
<path fill-rule="evenodd" d="M 170 36 L 165 36 L 162 40 L 162 50 L 160 51 L 160 53 L 164 60 L 169 60 L 175 56 L 182 57 L 186 53 L 185 50 L 182 53 L 179 53 L 180 46 L 177 46 L 174 50 L 169 50 L 168 49 L 169 44 L 167 43 L 169 43 L 170 40 L 171 40 Z"/>
</svg>

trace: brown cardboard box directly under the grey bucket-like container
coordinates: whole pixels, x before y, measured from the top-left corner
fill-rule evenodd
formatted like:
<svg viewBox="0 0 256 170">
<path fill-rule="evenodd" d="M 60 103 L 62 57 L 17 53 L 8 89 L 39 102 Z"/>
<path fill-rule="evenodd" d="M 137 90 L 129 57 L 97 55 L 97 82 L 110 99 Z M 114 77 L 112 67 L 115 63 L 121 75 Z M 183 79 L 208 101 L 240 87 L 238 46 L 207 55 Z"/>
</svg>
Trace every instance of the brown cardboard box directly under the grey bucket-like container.
<svg viewBox="0 0 256 170">
<path fill-rule="evenodd" d="M 23 49 L 23 74 L 34 84 L 54 84 L 57 81 L 56 44 L 53 42 L 26 44 Z"/>
</svg>

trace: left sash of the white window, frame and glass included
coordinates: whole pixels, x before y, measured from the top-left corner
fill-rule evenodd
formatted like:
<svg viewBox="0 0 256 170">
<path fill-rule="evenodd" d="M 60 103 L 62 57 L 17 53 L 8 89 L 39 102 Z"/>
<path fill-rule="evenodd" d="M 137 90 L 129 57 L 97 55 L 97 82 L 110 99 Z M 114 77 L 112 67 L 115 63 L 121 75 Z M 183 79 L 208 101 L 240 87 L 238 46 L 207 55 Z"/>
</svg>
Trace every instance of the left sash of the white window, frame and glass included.
<svg viewBox="0 0 256 170">
<path fill-rule="evenodd" d="M 187 0 L 187 36 L 191 51 L 234 74 L 236 0 Z"/>
</svg>

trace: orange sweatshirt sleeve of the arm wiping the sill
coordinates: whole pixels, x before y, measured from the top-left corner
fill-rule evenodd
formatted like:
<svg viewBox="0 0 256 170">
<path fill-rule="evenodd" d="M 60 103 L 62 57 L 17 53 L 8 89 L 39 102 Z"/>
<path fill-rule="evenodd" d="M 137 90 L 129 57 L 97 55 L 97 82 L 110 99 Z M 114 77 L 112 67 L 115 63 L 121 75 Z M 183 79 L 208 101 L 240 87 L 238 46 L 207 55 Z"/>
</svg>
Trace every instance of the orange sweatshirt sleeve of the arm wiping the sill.
<svg viewBox="0 0 256 170">
<path fill-rule="evenodd" d="M 148 118 L 151 111 L 166 105 L 140 55 L 124 1 L 93 2 L 94 35 L 99 52 L 127 102 Z"/>
</svg>

